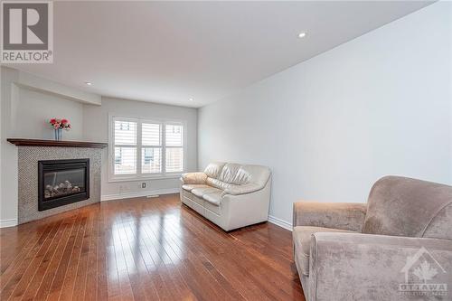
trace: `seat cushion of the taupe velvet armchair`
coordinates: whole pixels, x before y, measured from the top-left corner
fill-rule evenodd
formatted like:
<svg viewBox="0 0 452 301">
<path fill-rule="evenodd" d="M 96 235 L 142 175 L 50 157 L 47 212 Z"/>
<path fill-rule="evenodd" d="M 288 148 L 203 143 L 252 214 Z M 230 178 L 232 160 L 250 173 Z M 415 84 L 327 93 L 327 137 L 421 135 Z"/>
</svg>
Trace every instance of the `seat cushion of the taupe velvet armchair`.
<svg viewBox="0 0 452 301">
<path fill-rule="evenodd" d="M 308 227 L 298 226 L 294 227 L 292 232 L 294 240 L 294 259 L 297 261 L 297 267 L 301 268 L 301 272 L 309 276 L 309 256 L 311 250 L 311 235 L 317 232 L 351 232 L 350 230 L 339 230 L 333 228 L 322 227 Z"/>
</svg>

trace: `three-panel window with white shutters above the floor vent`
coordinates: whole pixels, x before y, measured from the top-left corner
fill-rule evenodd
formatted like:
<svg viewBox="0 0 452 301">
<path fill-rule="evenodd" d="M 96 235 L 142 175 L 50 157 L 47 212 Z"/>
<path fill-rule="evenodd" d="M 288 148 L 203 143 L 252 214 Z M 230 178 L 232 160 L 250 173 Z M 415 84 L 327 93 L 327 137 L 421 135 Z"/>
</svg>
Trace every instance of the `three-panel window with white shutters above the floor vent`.
<svg viewBox="0 0 452 301">
<path fill-rule="evenodd" d="M 112 118 L 111 125 L 110 178 L 184 172 L 183 123 Z"/>
</svg>

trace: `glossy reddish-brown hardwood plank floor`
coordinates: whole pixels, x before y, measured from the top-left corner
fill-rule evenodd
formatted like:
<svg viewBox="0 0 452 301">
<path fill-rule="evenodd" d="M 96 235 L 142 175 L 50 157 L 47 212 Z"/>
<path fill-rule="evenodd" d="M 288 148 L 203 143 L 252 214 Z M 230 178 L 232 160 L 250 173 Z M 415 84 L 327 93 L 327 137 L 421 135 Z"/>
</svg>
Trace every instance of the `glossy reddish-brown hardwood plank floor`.
<svg viewBox="0 0 452 301">
<path fill-rule="evenodd" d="M 178 194 L 101 202 L 1 230 L 2 300 L 305 300 L 291 233 L 226 233 Z"/>
</svg>

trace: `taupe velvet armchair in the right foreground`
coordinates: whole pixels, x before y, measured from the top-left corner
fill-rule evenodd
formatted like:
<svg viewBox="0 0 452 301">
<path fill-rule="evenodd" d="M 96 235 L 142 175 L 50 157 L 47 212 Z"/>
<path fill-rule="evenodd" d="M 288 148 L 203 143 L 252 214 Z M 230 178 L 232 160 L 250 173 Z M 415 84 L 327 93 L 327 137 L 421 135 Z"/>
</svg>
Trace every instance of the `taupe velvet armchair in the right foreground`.
<svg viewBox="0 0 452 301">
<path fill-rule="evenodd" d="M 367 204 L 294 203 L 306 300 L 452 300 L 452 187 L 387 176 Z"/>
</svg>

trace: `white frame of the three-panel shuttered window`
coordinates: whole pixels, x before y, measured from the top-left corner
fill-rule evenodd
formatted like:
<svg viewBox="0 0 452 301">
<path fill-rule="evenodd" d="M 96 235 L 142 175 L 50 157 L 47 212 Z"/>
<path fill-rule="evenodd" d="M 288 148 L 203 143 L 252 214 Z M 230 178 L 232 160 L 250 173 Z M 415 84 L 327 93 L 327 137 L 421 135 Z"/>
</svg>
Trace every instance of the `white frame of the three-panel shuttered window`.
<svg viewBox="0 0 452 301">
<path fill-rule="evenodd" d="M 137 123 L 137 173 L 136 174 L 114 174 L 115 173 L 115 121 L 127 121 L 127 122 L 136 122 Z M 162 172 L 161 173 L 142 173 L 142 150 L 146 148 L 146 146 L 142 145 L 142 124 L 143 123 L 152 123 L 159 124 L 162 138 Z M 183 140 L 182 140 L 182 149 L 183 149 L 183 160 L 182 165 L 183 169 L 181 172 L 166 172 L 166 141 L 165 141 L 165 129 L 166 125 L 176 125 L 182 126 L 183 131 Z M 122 145 L 121 145 L 122 146 Z M 154 147 L 154 146 L 148 146 Z M 168 146 L 171 147 L 181 147 L 181 146 Z M 132 182 L 132 181 L 146 181 L 149 179 L 173 179 L 178 178 L 181 174 L 186 172 L 187 166 L 187 126 L 185 120 L 180 119 L 170 119 L 170 118 L 137 118 L 137 117 L 127 117 L 124 115 L 116 115 L 116 114 L 108 114 L 108 182 Z"/>
</svg>

